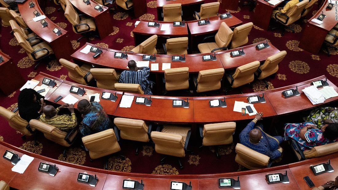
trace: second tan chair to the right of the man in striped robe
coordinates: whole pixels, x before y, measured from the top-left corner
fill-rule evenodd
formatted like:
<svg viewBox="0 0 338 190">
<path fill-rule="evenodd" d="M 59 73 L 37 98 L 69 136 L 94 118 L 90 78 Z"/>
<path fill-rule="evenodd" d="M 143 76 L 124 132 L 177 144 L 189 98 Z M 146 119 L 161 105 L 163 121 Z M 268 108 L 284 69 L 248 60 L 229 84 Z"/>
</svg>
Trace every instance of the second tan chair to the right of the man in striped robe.
<svg viewBox="0 0 338 190">
<path fill-rule="evenodd" d="M 196 92 L 199 93 L 220 89 L 223 75 L 223 68 L 200 71 L 198 77 L 194 77 Z"/>
</svg>

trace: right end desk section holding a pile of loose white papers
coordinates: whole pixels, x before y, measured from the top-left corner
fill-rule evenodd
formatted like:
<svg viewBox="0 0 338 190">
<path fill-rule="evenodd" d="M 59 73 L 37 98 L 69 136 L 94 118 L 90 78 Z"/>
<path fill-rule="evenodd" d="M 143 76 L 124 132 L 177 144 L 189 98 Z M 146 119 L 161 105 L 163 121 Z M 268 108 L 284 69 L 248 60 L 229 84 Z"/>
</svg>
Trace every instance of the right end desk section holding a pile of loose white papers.
<svg viewBox="0 0 338 190">
<path fill-rule="evenodd" d="M 290 114 L 290 113 L 294 113 L 297 111 L 301 111 L 301 110 L 308 110 L 308 109 L 312 109 L 314 107 L 319 107 L 322 104 L 326 104 L 328 102 L 333 102 L 336 101 L 338 99 L 338 97 L 333 97 L 333 98 L 329 98 L 328 100 L 325 100 L 324 103 L 322 104 L 316 104 L 313 105 L 310 100 L 308 99 L 308 97 L 306 97 L 306 95 L 304 94 L 304 92 L 302 91 L 305 87 L 309 87 L 312 81 L 316 81 L 316 80 L 325 80 L 325 76 L 322 75 L 320 77 L 311 79 L 311 80 L 307 80 L 304 82 L 300 82 L 297 84 L 293 84 L 293 85 L 289 85 L 289 86 L 285 86 L 285 87 L 281 87 L 281 88 L 276 88 L 276 89 L 272 89 L 272 90 L 268 90 L 268 91 L 264 91 L 266 97 L 269 99 L 273 109 L 276 111 L 277 115 L 283 115 L 283 114 Z M 333 86 L 333 88 L 335 89 L 335 91 L 338 91 L 338 87 L 336 85 L 334 85 L 331 81 L 327 80 L 330 86 Z M 290 98 L 284 98 L 282 92 L 284 90 L 288 90 L 288 89 L 295 89 L 296 86 L 298 86 L 298 91 L 300 93 L 300 96 L 293 96 Z M 318 89 L 322 89 L 323 87 L 319 87 Z M 295 106 L 296 105 L 296 106 Z"/>
</svg>

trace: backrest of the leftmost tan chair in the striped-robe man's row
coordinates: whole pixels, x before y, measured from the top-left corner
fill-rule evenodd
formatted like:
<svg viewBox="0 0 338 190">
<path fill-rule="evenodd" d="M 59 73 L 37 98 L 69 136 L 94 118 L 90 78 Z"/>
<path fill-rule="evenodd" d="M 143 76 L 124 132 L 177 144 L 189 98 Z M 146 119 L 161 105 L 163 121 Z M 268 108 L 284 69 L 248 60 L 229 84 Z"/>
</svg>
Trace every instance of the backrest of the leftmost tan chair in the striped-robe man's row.
<svg viewBox="0 0 338 190">
<path fill-rule="evenodd" d="M 83 79 L 84 76 L 86 76 L 87 73 L 84 73 L 79 65 L 72 63 L 66 59 L 60 59 L 60 64 L 65 67 L 65 69 L 68 70 L 68 76 L 70 79 L 80 83 L 80 84 L 87 84 L 86 81 Z"/>
</svg>

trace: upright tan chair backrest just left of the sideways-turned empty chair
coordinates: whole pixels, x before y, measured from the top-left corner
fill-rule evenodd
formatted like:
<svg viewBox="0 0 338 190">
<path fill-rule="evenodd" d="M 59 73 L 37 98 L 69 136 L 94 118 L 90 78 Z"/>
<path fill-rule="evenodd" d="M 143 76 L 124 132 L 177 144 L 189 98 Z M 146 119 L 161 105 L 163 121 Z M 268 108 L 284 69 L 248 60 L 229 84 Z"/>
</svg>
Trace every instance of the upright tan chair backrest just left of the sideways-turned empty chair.
<svg viewBox="0 0 338 190">
<path fill-rule="evenodd" d="M 188 37 L 169 38 L 166 42 L 167 55 L 188 54 Z"/>
</svg>

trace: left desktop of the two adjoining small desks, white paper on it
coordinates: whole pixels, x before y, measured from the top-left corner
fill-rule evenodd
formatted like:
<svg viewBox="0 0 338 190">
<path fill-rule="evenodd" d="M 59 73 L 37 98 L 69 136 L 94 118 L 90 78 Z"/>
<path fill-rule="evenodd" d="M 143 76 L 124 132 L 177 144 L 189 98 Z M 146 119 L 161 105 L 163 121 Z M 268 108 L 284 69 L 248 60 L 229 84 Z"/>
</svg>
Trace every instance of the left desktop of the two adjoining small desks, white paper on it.
<svg viewBox="0 0 338 190">
<path fill-rule="evenodd" d="M 160 21 L 160 27 L 149 27 L 148 22 L 156 22 L 159 21 L 148 21 L 148 20 L 141 20 L 140 23 L 132 30 L 132 33 L 141 34 L 141 35 L 158 35 L 158 36 L 169 36 L 169 37 L 185 37 L 188 36 L 188 27 L 187 23 L 185 22 L 184 27 L 180 26 L 173 26 L 173 22 L 166 22 Z M 169 24 L 168 30 L 161 30 L 163 24 Z M 135 44 L 138 45 L 138 44 Z"/>
</svg>

